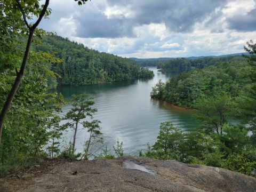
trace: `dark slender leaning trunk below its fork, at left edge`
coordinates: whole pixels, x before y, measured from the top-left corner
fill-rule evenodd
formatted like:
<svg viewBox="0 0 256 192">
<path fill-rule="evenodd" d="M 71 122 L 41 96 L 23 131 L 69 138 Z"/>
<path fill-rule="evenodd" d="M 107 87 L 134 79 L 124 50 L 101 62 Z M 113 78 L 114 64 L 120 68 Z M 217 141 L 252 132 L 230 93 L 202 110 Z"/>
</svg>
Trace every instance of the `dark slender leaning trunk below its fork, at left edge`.
<svg viewBox="0 0 256 192">
<path fill-rule="evenodd" d="M 2 130 L 3 130 L 3 124 L 4 124 L 4 118 L 7 114 L 8 109 L 10 108 L 10 105 L 12 103 L 12 100 L 14 98 L 15 93 L 18 90 L 18 87 L 21 83 L 22 77 L 24 76 L 25 73 L 25 68 L 26 68 L 26 64 L 27 64 L 27 60 L 28 60 L 28 55 L 29 55 L 29 49 L 30 49 L 30 45 L 32 42 L 32 38 L 33 38 L 33 34 L 34 34 L 34 29 L 30 29 L 29 30 L 29 37 L 28 37 L 28 42 L 27 42 L 27 46 L 26 46 L 26 51 L 23 57 L 23 61 L 20 67 L 20 71 L 18 72 L 18 70 L 16 69 L 16 78 L 15 81 L 12 85 L 12 89 L 8 94 L 8 97 L 4 103 L 4 107 L 1 111 L 0 114 L 0 142 L 1 142 L 1 138 L 2 138 Z"/>
</svg>

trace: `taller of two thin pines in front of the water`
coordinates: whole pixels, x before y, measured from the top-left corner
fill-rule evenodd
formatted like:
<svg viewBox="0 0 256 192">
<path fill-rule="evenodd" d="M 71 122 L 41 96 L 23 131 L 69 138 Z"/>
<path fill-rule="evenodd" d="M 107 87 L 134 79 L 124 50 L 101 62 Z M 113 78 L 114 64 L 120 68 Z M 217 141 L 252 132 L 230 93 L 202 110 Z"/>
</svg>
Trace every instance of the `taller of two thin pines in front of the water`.
<svg viewBox="0 0 256 192">
<path fill-rule="evenodd" d="M 91 129 L 91 133 L 95 133 L 94 131 L 97 131 L 99 122 L 89 123 L 85 121 L 86 117 L 93 118 L 93 114 L 97 112 L 97 109 L 91 107 L 94 105 L 94 101 L 92 100 L 92 98 L 89 97 L 89 95 L 85 93 L 79 95 L 72 95 L 70 104 L 72 108 L 68 111 L 65 117 L 63 117 L 63 119 L 69 121 L 68 123 L 66 123 L 66 126 L 74 130 L 72 143 L 72 153 L 74 155 L 78 124 L 82 124 L 84 129 L 89 126 L 89 128 Z M 88 148 L 90 147 L 90 145 L 87 146 Z"/>
</svg>

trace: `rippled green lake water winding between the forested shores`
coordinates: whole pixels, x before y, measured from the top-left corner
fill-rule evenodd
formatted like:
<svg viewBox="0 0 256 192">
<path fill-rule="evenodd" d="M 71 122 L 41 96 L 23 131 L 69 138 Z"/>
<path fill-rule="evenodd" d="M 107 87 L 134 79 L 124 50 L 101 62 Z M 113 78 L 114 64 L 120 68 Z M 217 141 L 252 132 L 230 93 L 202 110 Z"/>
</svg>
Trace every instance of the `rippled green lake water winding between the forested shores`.
<svg viewBox="0 0 256 192">
<path fill-rule="evenodd" d="M 193 111 L 175 108 L 163 101 L 150 98 L 151 87 L 159 79 L 166 82 L 177 74 L 162 74 L 156 68 L 153 79 L 137 79 L 128 82 L 114 82 L 105 85 L 59 86 L 66 99 L 71 94 L 88 93 L 94 98 L 94 107 L 98 108 L 95 119 L 99 119 L 102 127 L 104 143 L 102 147 L 112 148 L 116 140 L 123 141 L 125 155 L 138 155 L 146 144 L 157 139 L 159 125 L 171 121 L 174 125 L 187 131 L 197 127 L 199 123 L 191 116 Z M 65 114 L 70 106 L 63 108 Z M 72 132 L 66 137 L 71 140 Z M 77 152 L 83 149 L 87 138 L 86 131 L 80 130 L 76 141 Z M 100 151 L 98 151 L 100 152 Z"/>
</svg>

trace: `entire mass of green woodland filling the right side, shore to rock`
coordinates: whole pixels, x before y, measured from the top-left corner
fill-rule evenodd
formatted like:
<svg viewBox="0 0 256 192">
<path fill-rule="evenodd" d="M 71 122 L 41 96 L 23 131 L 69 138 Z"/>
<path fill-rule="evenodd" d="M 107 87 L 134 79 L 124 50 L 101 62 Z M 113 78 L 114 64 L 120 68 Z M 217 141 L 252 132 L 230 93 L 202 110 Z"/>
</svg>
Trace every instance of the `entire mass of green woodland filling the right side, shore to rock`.
<svg viewBox="0 0 256 192">
<path fill-rule="evenodd" d="M 169 156 L 159 153 L 163 149 L 157 144 L 166 143 L 165 138 L 168 137 L 172 142 L 174 135 L 160 132 L 159 135 L 164 134 L 165 137 L 158 136 L 157 142 L 153 146 L 148 145 L 145 154 L 140 153 L 140 156 L 218 166 L 251 175 L 256 170 L 255 47 L 252 41 L 245 46 L 245 50 L 250 53 L 244 55 L 248 62 L 239 57 L 240 61 L 191 70 L 165 84 L 156 84 L 151 97 L 195 108 L 195 117 L 202 121 L 203 132 L 198 130 L 182 134 L 176 150 L 171 147 L 164 150 L 173 151 L 174 154 Z M 165 61 L 166 66 L 162 67 L 167 71 L 172 70 L 178 61 L 182 60 Z M 234 118 L 247 126 L 227 124 Z"/>
</svg>

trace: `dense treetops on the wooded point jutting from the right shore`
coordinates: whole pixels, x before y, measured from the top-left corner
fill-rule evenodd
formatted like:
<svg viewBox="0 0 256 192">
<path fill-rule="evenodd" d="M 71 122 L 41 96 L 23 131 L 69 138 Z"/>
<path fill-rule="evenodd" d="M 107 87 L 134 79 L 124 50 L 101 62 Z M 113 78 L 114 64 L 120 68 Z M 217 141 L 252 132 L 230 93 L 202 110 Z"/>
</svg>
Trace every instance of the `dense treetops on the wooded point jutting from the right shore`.
<svg viewBox="0 0 256 192">
<path fill-rule="evenodd" d="M 222 95 L 223 92 L 235 98 L 251 83 L 249 71 L 250 66 L 245 61 L 219 63 L 201 70 L 191 70 L 167 81 L 159 97 L 173 105 L 191 108 L 197 99 Z M 157 89 L 157 86 L 153 87 L 153 93 Z M 152 96 L 154 98 L 154 94 Z"/>
</svg>

